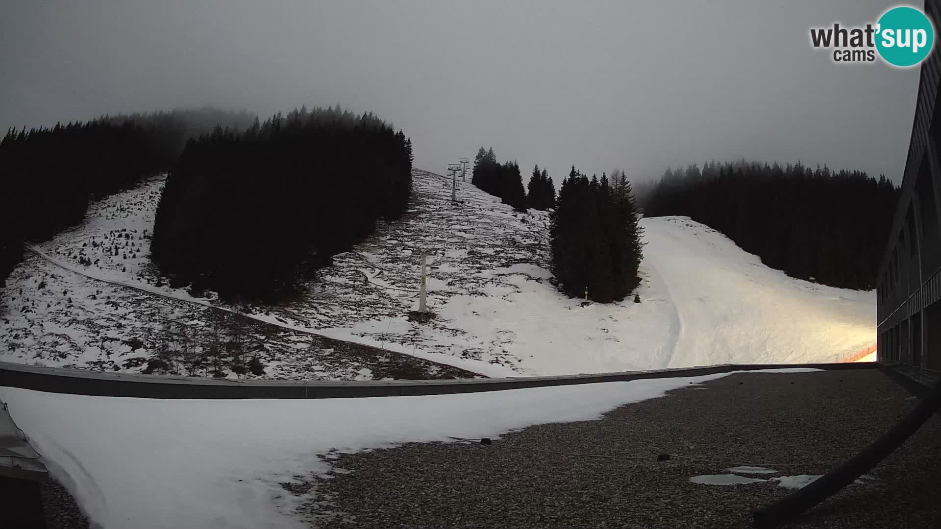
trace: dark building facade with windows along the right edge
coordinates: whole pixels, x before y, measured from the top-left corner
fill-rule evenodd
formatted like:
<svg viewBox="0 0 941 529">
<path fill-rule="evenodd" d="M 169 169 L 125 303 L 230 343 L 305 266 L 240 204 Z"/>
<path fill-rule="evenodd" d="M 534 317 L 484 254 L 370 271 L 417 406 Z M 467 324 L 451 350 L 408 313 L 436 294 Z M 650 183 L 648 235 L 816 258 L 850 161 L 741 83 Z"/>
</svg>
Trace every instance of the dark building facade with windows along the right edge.
<svg viewBox="0 0 941 529">
<path fill-rule="evenodd" d="M 925 13 L 941 27 L 938 0 Z M 941 54 L 921 63 L 901 196 L 879 268 L 877 355 L 913 375 L 941 377 Z"/>
</svg>

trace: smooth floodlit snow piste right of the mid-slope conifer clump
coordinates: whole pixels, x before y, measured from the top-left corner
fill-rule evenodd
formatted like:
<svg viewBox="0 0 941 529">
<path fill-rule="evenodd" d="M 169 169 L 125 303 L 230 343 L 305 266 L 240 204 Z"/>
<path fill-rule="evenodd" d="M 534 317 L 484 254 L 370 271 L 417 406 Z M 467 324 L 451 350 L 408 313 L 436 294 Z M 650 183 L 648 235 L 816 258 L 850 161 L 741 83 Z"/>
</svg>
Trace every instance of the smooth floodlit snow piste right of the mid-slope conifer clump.
<svg viewBox="0 0 941 529">
<path fill-rule="evenodd" d="M 645 267 L 676 310 L 667 367 L 841 361 L 875 342 L 875 293 L 789 278 L 688 217 L 645 218 Z"/>
</svg>

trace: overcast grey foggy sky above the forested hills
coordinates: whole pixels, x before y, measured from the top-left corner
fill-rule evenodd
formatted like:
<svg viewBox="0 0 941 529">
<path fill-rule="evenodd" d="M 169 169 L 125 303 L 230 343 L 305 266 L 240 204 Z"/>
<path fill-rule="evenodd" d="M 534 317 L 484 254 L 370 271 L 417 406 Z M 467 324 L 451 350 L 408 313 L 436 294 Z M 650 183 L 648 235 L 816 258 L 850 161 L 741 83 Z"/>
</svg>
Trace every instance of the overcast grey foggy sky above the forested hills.
<svg viewBox="0 0 941 529">
<path fill-rule="evenodd" d="M 0 127 L 214 104 L 373 110 L 416 164 L 492 145 L 557 180 L 746 157 L 901 182 L 918 71 L 837 66 L 811 25 L 895 3 L 2 0 Z"/>
</svg>

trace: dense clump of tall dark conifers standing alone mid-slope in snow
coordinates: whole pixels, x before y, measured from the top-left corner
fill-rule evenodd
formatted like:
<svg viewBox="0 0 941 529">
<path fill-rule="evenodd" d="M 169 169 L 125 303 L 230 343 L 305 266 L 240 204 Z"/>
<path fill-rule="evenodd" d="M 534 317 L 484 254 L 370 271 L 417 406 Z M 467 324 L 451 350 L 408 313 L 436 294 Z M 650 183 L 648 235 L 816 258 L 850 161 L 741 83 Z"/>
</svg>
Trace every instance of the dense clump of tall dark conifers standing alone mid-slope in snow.
<svg viewBox="0 0 941 529">
<path fill-rule="evenodd" d="M 607 303 L 640 284 L 642 230 L 630 182 L 622 171 L 588 179 L 572 167 L 551 219 L 552 266 L 569 297 Z"/>
</svg>

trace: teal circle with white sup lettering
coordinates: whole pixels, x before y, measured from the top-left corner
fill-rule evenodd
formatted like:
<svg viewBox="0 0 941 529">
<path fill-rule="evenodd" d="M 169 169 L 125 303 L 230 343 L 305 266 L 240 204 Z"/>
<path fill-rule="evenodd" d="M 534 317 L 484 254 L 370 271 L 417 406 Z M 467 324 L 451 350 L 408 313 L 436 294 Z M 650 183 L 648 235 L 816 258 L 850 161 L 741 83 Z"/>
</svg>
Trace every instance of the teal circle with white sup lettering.
<svg viewBox="0 0 941 529">
<path fill-rule="evenodd" d="M 915 66 L 931 53 L 934 27 L 920 10 L 891 8 L 876 25 L 876 50 L 893 66 Z"/>
</svg>

